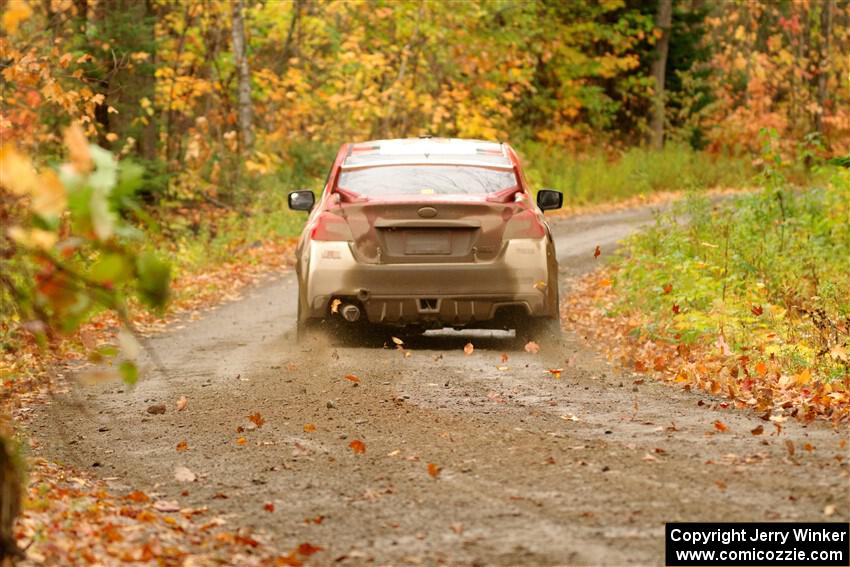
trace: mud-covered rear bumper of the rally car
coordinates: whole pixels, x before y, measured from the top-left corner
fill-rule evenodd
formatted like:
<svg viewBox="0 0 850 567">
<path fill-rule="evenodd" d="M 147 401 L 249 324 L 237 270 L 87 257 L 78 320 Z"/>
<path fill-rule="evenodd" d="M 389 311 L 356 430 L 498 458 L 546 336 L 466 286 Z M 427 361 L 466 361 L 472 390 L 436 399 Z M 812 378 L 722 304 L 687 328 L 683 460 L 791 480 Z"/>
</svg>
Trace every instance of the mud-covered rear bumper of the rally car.
<svg viewBox="0 0 850 567">
<path fill-rule="evenodd" d="M 487 262 L 362 264 L 347 242 L 317 242 L 301 258 L 302 316 L 355 303 L 371 323 L 493 323 L 506 311 L 557 314 L 557 264 L 547 239 L 517 239 Z"/>
</svg>

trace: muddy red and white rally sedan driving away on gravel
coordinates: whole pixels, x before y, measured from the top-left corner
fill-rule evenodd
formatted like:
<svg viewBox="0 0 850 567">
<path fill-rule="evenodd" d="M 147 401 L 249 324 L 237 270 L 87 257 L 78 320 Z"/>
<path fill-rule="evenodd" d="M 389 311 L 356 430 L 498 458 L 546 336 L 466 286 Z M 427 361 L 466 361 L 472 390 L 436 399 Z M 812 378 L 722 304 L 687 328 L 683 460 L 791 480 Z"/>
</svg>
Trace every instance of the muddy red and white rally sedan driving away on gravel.
<svg viewBox="0 0 850 567">
<path fill-rule="evenodd" d="M 321 325 L 560 329 L 557 260 L 507 144 L 377 140 L 340 149 L 296 252 L 299 338 Z"/>
</svg>

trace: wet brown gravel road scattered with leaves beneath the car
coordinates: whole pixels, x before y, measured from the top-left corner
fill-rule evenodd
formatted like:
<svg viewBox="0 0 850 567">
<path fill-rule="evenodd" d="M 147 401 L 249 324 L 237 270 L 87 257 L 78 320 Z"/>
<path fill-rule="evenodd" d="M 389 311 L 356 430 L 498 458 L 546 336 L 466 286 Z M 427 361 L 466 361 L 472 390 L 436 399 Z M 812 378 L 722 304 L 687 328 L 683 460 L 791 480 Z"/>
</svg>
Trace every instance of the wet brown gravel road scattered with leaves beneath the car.
<svg viewBox="0 0 850 567">
<path fill-rule="evenodd" d="M 555 221 L 565 286 L 597 245 L 604 255 L 651 221 L 649 209 Z M 133 389 L 73 387 L 33 420 L 42 452 L 119 491 L 208 506 L 282 550 L 319 545 L 322 565 L 660 565 L 666 521 L 850 518 L 846 429 L 771 434 L 721 399 L 636 382 L 570 333 L 539 354 L 484 332 L 302 349 L 295 298 L 285 273 L 174 324 L 150 341 L 167 375 L 148 361 Z M 159 403 L 165 414 L 147 413 Z M 197 482 L 176 482 L 177 466 Z"/>
</svg>

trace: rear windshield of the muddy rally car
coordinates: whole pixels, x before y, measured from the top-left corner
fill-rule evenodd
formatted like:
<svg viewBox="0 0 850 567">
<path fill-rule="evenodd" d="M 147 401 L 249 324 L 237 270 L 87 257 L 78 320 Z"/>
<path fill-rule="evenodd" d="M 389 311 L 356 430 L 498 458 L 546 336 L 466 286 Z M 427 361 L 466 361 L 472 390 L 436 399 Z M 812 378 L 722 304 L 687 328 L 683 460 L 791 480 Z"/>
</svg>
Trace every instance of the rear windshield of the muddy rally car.
<svg viewBox="0 0 850 567">
<path fill-rule="evenodd" d="M 480 195 L 517 186 L 513 171 L 465 165 L 392 165 L 343 170 L 339 187 L 364 195 Z"/>
</svg>

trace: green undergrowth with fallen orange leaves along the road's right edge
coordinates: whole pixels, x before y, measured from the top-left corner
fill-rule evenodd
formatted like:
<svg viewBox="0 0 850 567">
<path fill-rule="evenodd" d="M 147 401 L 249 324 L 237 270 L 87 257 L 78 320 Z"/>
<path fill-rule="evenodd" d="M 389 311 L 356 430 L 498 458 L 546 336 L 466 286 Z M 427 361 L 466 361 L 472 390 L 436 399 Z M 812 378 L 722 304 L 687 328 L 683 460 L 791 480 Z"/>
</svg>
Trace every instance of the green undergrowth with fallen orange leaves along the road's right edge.
<svg viewBox="0 0 850 567">
<path fill-rule="evenodd" d="M 720 204 L 692 194 L 579 286 L 571 320 L 616 329 L 636 370 L 756 409 L 850 416 L 850 170 L 828 175 Z"/>
</svg>

